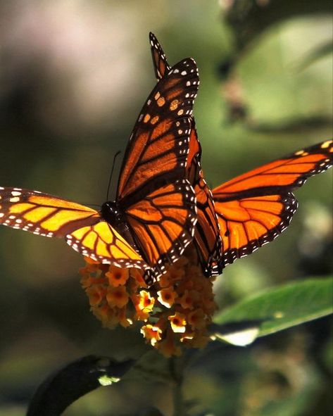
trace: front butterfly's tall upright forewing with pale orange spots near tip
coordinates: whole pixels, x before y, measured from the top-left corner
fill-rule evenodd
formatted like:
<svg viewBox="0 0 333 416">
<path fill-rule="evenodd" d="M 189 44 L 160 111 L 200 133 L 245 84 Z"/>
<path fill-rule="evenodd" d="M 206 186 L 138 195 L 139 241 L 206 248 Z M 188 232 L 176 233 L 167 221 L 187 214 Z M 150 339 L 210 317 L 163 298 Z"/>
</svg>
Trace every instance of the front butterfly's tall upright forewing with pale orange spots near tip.
<svg viewBox="0 0 333 416">
<path fill-rule="evenodd" d="M 184 177 L 190 118 L 199 86 L 196 63 L 177 63 L 156 84 L 132 132 L 120 170 L 117 198 L 122 206 L 161 184 Z"/>
</svg>

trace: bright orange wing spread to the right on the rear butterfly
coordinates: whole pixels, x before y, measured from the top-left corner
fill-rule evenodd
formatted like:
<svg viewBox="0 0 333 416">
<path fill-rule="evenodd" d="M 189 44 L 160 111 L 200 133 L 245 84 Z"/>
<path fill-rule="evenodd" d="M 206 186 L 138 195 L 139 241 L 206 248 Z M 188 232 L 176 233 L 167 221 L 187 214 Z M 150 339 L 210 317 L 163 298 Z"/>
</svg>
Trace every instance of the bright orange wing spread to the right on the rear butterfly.
<svg viewBox="0 0 333 416">
<path fill-rule="evenodd" d="M 331 140 L 267 163 L 213 189 L 223 265 L 247 256 L 286 229 L 298 206 L 291 191 L 332 163 Z"/>
</svg>

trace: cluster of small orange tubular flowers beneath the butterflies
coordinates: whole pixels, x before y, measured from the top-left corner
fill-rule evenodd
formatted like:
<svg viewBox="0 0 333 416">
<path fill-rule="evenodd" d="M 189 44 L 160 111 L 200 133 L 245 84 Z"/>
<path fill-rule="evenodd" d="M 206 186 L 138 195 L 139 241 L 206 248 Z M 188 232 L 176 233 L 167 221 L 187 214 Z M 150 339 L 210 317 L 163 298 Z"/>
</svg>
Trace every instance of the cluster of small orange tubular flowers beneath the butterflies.
<svg viewBox="0 0 333 416">
<path fill-rule="evenodd" d="M 141 332 L 146 342 L 167 357 L 180 355 L 182 346 L 206 346 L 207 326 L 217 306 L 212 280 L 203 275 L 193 248 L 168 265 L 150 287 L 143 270 L 85 260 L 81 283 L 104 327 L 144 322 Z"/>
</svg>

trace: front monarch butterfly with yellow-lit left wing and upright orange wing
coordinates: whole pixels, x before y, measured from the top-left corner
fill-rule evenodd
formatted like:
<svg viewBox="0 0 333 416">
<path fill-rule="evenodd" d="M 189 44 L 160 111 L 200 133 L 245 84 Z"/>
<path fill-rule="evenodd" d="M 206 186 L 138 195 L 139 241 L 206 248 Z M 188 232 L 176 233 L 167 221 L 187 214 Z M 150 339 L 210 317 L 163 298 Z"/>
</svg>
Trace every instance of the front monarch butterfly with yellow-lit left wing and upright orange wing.
<svg viewBox="0 0 333 416">
<path fill-rule="evenodd" d="M 196 201 L 184 170 L 198 85 L 191 58 L 156 84 L 127 144 L 115 201 L 97 211 L 39 191 L 0 187 L 0 224 L 63 237 L 100 263 L 161 275 L 194 234 Z"/>
</svg>

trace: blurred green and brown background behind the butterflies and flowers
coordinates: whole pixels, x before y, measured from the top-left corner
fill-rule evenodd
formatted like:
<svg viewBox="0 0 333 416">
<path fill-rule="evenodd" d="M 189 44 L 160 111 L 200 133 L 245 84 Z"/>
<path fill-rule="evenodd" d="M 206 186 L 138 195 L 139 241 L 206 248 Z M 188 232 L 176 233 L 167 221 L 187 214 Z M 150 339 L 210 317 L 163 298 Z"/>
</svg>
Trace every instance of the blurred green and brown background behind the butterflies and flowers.
<svg viewBox="0 0 333 416">
<path fill-rule="evenodd" d="M 124 151 L 155 84 L 149 31 L 170 63 L 196 59 L 194 114 L 212 187 L 332 137 L 325 0 L 4 0 L 0 23 L 1 186 L 105 201 L 113 156 Z M 287 232 L 217 279 L 221 308 L 332 271 L 332 171 L 296 195 L 300 207 Z M 135 358 L 145 350 L 136 330 L 101 329 L 80 287 L 81 266 L 64 241 L 1 227 L 1 416 L 23 415 L 38 384 L 70 360 L 89 353 Z M 251 348 L 212 344 L 187 373 L 194 411 L 329 415 L 330 328 L 325 319 Z M 134 415 L 154 405 L 168 416 L 170 397 L 168 384 L 133 374 L 84 396 L 65 415 Z"/>
</svg>

